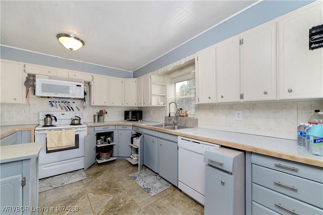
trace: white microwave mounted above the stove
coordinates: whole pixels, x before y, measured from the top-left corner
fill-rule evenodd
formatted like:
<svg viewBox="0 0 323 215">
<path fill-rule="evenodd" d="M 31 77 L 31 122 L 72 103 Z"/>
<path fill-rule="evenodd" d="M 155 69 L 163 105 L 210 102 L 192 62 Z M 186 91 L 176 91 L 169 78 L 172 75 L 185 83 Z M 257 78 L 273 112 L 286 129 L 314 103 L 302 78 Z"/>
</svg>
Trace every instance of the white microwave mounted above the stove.
<svg viewBox="0 0 323 215">
<path fill-rule="evenodd" d="M 82 99 L 84 82 L 36 75 L 35 96 Z"/>
</svg>

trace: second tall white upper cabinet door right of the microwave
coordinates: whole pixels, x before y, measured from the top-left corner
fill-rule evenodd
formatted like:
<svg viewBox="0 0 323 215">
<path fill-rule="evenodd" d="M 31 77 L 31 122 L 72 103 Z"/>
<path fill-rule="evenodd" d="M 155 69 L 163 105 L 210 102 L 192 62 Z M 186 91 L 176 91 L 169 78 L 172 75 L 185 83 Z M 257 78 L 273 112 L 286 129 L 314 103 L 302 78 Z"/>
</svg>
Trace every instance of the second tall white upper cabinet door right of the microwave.
<svg viewBox="0 0 323 215">
<path fill-rule="evenodd" d="M 124 105 L 124 79 L 109 78 L 109 99 L 110 106 L 123 106 Z"/>
</svg>

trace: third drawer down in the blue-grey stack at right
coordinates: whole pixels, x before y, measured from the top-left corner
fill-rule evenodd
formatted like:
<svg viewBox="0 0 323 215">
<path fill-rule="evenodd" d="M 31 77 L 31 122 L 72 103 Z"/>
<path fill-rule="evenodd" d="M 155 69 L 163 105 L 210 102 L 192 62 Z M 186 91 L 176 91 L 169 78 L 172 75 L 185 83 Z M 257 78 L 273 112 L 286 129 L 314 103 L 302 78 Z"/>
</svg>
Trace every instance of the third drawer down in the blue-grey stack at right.
<svg viewBox="0 0 323 215">
<path fill-rule="evenodd" d="M 313 205 L 252 183 L 252 201 L 282 214 L 322 214 Z"/>
</svg>

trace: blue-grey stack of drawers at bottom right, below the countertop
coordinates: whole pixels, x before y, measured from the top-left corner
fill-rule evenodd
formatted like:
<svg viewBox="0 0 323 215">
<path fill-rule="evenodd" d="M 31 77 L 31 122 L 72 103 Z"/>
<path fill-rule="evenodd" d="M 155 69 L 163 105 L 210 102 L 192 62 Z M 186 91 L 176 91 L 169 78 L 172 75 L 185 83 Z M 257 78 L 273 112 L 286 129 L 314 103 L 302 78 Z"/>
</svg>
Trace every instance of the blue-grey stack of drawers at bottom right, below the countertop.
<svg viewBox="0 0 323 215">
<path fill-rule="evenodd" d="M 322 214 L 323 168 L 252 153 L 252 214 Z"/>
</svg>

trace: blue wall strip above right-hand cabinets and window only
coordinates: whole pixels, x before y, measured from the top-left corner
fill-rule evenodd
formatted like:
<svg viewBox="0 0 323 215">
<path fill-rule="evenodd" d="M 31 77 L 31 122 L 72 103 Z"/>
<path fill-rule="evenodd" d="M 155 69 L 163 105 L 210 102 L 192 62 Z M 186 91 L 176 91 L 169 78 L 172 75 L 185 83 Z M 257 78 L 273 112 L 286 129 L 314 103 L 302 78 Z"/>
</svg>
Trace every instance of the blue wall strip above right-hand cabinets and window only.
<svg viewBox="0 0 323 215">
<path fill-rule="evenodd" d="M 231 18 L 221 25 L 190 40 L 173 51 L 159 57 L 151 63 L 137 69 L 134 78 L 143 76 L 151 71 L 169 65 L 195 52 L 216 44 L 222 40 L 242 33 L 257 25 L 275 19 L 313 1 L 263 1 L 247 11 Z"/>
</svg>

